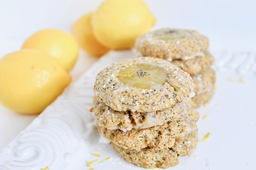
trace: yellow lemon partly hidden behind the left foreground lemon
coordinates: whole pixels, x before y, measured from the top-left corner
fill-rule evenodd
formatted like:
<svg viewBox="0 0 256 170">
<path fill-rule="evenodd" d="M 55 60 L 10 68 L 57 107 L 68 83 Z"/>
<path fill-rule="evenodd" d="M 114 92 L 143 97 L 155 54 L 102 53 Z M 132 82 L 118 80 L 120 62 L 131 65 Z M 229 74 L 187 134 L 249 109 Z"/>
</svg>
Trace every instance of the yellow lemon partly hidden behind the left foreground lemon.
<svg viewBox="0 0 256 170">
<path fill-rule="evenodd" d="M 31 35 L 22 49 L 46 52 L 57 58 L 69 72 L 78 58 L 78 43 L 72 35 L 59 29 L 43 29 Z"/>
</svg>

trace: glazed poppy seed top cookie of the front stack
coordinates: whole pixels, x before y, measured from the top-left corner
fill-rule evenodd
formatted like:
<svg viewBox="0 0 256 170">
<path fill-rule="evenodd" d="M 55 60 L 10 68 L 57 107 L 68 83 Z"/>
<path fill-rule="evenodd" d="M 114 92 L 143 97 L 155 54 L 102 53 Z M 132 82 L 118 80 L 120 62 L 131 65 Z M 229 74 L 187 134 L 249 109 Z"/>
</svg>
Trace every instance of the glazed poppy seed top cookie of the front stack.
<svg viewBox="0 0 256 170">
<path fill-rule="evenodd" d="M 142 57 L 116 62 L 96 77 L 94 94 L 116 111 L 151 112 L 193 94 L 191 76 L 166 60 Z"/>
</svg>

